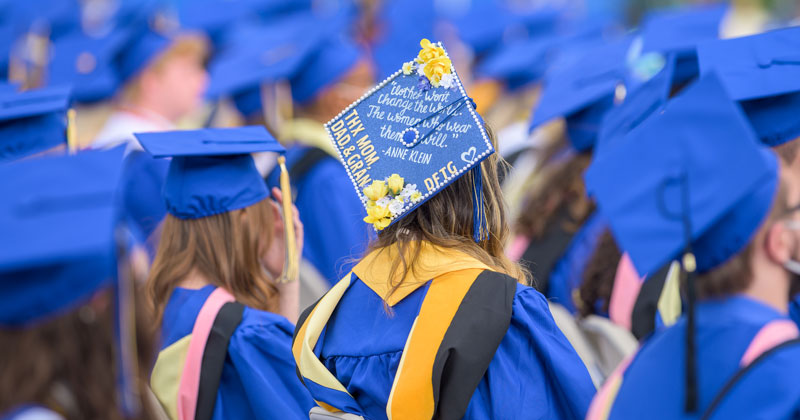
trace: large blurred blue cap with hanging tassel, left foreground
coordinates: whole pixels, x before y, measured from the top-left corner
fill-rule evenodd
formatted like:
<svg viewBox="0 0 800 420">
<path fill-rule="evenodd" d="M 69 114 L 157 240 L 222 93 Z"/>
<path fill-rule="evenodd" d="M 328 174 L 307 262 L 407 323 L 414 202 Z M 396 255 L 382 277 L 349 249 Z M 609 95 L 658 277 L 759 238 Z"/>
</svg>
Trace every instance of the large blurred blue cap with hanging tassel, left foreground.
<svg viewBox="0 0 800 420">
<path fill-rule="evenodd" d="M 111 289 L 118 384 L 135 417 L 133 279 L 118 270 L 130 245 L 118 220 L 122 148 L 0 166 L 0 325 L 29 328 Z"/>
</svg>

